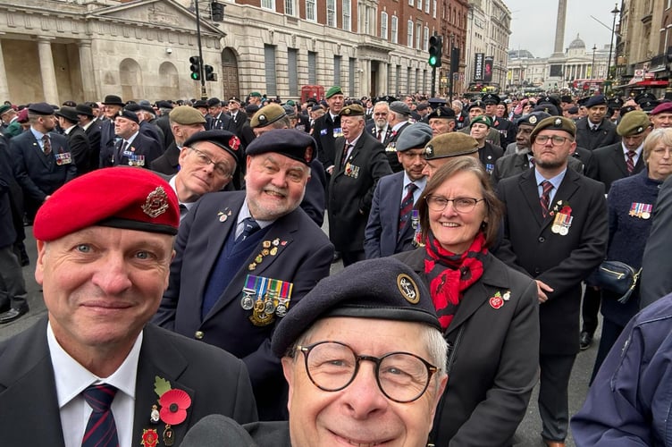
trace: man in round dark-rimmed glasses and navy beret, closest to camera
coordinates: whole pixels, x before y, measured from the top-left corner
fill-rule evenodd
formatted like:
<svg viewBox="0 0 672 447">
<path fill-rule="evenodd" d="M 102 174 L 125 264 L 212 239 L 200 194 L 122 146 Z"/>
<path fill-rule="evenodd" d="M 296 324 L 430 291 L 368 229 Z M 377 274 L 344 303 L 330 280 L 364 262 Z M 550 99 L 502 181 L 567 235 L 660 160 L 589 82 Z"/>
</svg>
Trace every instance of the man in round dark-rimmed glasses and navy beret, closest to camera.
<svg viewBox="0 0 672 447">
<path fill-rule="evenodd" d="M 448 381 L 440 327 L 413 269 L 391 257 L 349 266 L 318 283 L 273 334 L 290 384 L 289 424 L 247 424 L 245 436 L 231 419 L 207 417 L 182 446 L 426 445 Z"/>
</svg>

